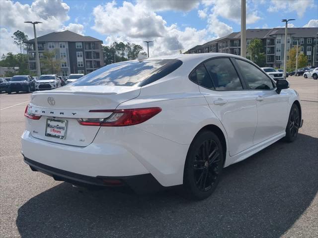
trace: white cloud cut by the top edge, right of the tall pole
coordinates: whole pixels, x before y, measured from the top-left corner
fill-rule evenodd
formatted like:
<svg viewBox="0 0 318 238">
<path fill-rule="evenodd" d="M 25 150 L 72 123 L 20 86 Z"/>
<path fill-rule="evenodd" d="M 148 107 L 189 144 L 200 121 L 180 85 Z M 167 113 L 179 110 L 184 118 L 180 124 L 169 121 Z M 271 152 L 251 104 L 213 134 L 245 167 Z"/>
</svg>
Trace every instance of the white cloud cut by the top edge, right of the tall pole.
<svg viewBox="0 0 318 238">
<path fill-rule="evenodd" d="M 296 11 L 299 17 L 303 17 L 306 9 L 312 7 L 314 7 L 314 0 L 271 0 L 267 11 Z"/>
</svg>

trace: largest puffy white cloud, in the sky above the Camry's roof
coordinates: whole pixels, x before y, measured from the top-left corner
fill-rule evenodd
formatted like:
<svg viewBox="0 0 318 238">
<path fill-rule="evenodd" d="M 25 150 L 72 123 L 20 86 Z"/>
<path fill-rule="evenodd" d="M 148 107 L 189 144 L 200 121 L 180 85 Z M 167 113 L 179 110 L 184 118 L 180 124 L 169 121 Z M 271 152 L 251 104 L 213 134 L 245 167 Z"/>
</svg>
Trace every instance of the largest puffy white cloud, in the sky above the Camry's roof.
<svg viewBox="0 0 318 238">
<path fill-rule="evenodd" d="M 168 26 L 145 4 L 124 1 L 122 6 L 117 6 L 115 1 L 108 2 L 96 6 L 93 17 L 92 28 L 106 35 L 108 44 L 129 41 L 143 45 L 146 50 L 143 41 L 154 41 L 149 49 L 151 56 L 177 54 L 180 49 L 187 50 L 207 40 L 207 30 L 186 27 L 181 31 L 176 24 Z"/>
</svg>

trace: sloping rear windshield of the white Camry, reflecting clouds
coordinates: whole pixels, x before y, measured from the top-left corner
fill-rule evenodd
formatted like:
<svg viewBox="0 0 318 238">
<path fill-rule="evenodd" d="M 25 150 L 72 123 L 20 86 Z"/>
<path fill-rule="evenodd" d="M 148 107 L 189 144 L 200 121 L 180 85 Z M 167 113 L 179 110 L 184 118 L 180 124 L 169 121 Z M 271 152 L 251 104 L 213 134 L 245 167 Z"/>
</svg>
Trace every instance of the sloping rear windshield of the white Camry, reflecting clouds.
<svg viewBox="0 0 318 238">
<path fill-rule="evenodd" d="M 73 86 L 144 86 L 180 67 L 181 60 L 132 60 L 108 64 L 73 83 Z"/>
</svg>

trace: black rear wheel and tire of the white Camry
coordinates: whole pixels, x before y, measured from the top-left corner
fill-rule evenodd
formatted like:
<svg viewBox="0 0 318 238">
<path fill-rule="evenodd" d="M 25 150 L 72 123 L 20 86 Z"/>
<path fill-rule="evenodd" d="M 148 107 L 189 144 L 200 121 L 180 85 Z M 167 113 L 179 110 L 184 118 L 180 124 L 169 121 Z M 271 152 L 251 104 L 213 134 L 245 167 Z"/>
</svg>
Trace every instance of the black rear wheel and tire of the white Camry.
<svg viewBox="0 0 318 238">
<path fill-rule="evenodd" d="M 183 187 L 188 197 L 202 200 L 217 187 L 223 169 L 223 147 L 218 136 L 209 130 L 193 139 L 186 157 Z"/>
</svg>

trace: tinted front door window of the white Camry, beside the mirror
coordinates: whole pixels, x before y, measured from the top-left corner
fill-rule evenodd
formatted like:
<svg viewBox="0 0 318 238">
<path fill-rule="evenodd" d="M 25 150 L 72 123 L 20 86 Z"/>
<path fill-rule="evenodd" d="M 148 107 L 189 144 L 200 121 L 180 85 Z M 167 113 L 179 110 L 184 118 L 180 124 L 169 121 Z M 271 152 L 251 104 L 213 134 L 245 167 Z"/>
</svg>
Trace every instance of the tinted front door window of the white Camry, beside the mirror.
<svg viewBox="0 0 318 238">
<path fill-rule="evenodd" d="M 270 90 L 274 88 L 273 81 L 260 69 L 243 60 L 236 60 L 249 89 Z"/>
</svg>

